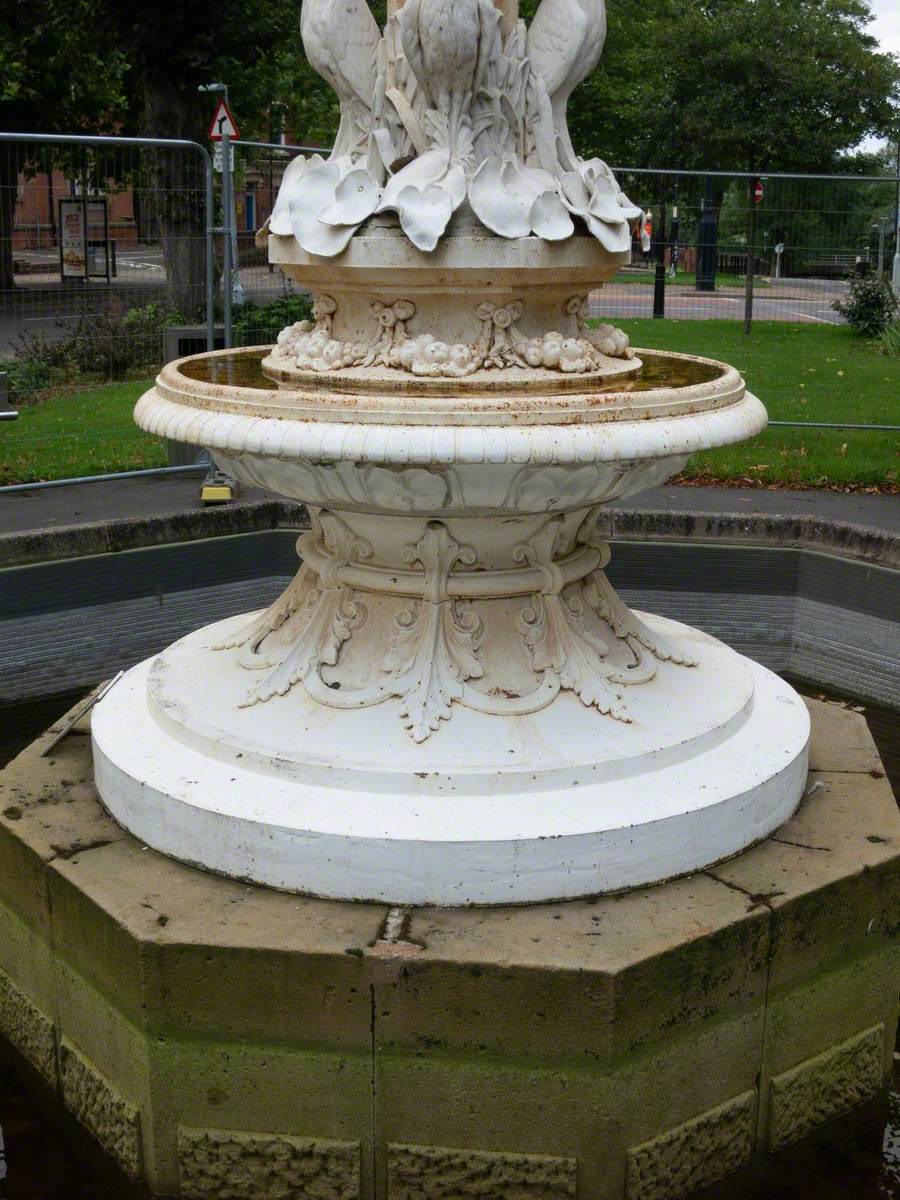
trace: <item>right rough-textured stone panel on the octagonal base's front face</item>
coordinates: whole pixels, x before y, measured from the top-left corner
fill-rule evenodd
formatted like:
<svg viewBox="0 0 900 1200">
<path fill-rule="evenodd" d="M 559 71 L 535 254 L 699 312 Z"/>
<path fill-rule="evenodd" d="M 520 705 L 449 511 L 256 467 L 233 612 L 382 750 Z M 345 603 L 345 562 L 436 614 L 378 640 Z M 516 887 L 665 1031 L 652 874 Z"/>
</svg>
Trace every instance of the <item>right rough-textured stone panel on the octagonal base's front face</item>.
<svg viewBox="0 0 900 1200">
<path fill-rule="evenodd" d="M 388 1200 L 575 1200 L 574 1158 L 389 1146 Z"/>
</svg>

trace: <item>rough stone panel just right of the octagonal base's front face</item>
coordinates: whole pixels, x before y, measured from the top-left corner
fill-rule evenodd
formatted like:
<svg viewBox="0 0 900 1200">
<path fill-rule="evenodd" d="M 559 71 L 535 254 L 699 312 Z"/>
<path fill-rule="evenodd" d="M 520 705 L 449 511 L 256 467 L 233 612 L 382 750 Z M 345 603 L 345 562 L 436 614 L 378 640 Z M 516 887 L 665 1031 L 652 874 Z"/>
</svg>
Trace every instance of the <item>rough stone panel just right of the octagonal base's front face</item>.
<svg viewBox="0 0 900 1200">
<path fill-rule="evenodd" d="M 680 1200 L 750 1158 L 755 1092 L 725 1104 L 628 1152 L 628 1200 Z"/>
</svg>

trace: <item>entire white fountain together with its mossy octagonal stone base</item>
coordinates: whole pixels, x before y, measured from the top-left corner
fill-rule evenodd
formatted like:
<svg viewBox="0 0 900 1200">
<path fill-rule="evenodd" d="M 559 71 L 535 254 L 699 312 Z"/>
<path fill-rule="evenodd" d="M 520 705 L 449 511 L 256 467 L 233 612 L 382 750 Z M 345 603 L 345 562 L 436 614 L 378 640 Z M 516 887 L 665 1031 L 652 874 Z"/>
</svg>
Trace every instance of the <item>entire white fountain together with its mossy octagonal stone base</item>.
<svg viewBox="0 0 900 1200">
<path fill-rule="evenodd" d="M 685 1200 L 889 1074 L 896 805 L 862 716 L 811 704 L 806 787 L 794 691 L 605 574 L 602 506 L 766 413 L 590 320 L 602 0 L 302 31 L 341 128 L 264 239 L 314 319 L 137 408 L 305 502 L 301 566 L 0 772 L 0 1034 L 154 1195 Z"/>
</svg>

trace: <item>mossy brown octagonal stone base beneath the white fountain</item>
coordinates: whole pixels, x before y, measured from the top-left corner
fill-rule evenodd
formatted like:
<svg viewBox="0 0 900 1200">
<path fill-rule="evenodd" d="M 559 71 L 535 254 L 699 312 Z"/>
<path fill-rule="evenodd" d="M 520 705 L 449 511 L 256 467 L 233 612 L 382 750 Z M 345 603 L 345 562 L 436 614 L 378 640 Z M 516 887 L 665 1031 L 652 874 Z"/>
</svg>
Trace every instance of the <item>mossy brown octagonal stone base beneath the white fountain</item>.
<svg viewBox="0 0 900 1200">
<path fill-rule="evenodd" d="M 875 1094 L 900 817 L 811 703 L 762 845 L 626 895 L 390 911 L 204 875 L 100 805 L 82 726 L 0 773 L 0 1033 L 130 1175 L 234 1200 L 678 1200 Z"/>
</svg>

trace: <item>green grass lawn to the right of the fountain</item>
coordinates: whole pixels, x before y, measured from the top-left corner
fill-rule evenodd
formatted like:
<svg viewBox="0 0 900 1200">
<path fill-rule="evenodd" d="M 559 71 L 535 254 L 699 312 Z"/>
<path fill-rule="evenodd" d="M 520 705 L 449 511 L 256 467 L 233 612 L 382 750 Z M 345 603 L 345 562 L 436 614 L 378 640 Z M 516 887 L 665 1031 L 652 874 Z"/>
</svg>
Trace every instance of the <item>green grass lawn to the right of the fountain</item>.
<svg viewBox="0 0 900 1200">
<path fill-rule="evenodd" d="M 876 353 L 846 325 L 758 320 L 623 320 L 634 346 L 684 350 L 736 366 L 772 420 L 900 425 L 900 358 Z M 900 482 L 900 433 L 769 428 L 695 455 L 685 478 L 791 487 Z"/>
</svg>

